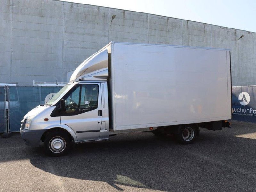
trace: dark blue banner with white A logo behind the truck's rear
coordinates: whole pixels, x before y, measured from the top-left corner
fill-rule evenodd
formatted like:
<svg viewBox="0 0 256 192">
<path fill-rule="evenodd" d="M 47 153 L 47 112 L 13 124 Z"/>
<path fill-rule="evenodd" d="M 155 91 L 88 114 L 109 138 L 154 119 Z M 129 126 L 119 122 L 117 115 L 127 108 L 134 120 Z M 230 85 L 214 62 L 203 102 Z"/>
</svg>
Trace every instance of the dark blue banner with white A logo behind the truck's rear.
<svg viewBox="0 0 256 192">
<path fill-rule="evenodd" d="M 232 87 L 232 120 L 256 123 L 256 86 Z"/>
</svg>

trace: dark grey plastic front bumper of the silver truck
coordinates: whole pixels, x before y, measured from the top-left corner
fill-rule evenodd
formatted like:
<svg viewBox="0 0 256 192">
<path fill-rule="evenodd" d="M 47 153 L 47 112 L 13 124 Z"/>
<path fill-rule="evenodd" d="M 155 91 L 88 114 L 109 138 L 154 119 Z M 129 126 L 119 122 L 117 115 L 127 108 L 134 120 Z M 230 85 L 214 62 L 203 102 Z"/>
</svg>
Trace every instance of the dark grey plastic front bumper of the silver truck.
<svg viewBox="0 0 256 192">
<path fill-rule="evenodd" d="M 21 129 L 20 134 L 24 143 L 28 146 L 38 147 L 41 137 L 46 130 L 28 130 Z"/>
</svg>

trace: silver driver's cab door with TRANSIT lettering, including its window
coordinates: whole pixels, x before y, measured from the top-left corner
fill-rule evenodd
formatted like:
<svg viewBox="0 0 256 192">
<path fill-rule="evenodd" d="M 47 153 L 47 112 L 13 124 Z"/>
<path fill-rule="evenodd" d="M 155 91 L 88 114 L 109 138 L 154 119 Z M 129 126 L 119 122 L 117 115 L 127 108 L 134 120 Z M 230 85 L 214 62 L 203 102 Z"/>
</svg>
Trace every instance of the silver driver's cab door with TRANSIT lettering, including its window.
<svg viewBox="0 0 256 192">
<path fill-rule="evenodd" d="M 74 130 L 78 141 L 97 140 L 102 123 L 100 83 L 78 84 L 65 96 L 66 111 L 61 112 L 61 124 Z"/>
</svg>

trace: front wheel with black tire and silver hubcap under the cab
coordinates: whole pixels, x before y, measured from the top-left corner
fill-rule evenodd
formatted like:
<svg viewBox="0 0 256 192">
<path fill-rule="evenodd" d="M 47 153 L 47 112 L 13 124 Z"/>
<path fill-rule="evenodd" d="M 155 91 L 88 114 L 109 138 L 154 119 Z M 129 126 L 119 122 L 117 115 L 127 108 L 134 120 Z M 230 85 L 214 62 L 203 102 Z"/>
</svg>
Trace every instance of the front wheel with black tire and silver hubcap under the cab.
<svg viewBox="0 0 256 192">
<path fill-rule="evenodd" d="M 68 153 L 70 139 L 63 131 L 50 132 L 45 136 L 44 149 L 47 154 L 54 157 L 63 156 Z"/>
</svg>

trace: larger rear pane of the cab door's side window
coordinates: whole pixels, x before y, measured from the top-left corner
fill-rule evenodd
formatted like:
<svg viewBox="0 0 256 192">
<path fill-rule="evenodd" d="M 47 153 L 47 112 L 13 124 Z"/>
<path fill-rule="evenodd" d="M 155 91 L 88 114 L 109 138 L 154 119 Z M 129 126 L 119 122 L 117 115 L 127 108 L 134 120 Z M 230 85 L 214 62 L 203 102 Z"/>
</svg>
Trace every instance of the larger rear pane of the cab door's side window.
<svg viewBox="0 0 256 192">
<path fill-rule="evenodd" d="M 81 87 L 80 108 L 98 108 L 99 86 L 97 84 L 83 84 Z"/>
</svg>

